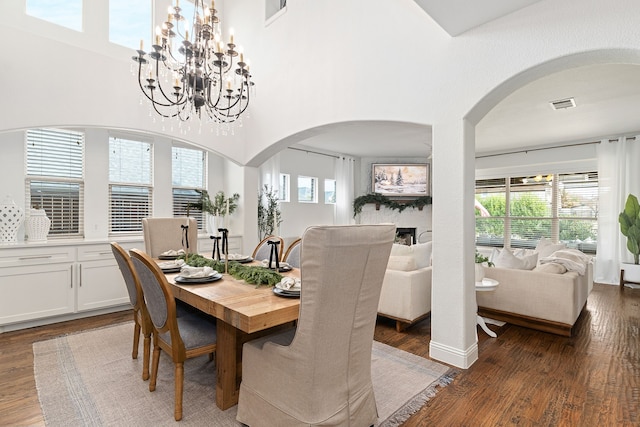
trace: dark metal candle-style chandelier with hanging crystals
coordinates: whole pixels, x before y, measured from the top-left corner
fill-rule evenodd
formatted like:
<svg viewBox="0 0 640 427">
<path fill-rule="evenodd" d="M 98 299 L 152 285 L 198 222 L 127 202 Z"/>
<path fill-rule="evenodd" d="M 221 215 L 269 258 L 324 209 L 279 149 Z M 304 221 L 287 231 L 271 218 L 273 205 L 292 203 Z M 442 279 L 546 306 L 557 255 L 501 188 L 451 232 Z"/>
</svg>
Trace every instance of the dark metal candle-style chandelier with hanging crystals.
<svg viewBox="0 0 640 427">
<path fill-rule="evenodd" d="M 211 7 L 194 0 L 189 27 L 180 0 L 169 6 L 167 20 L 156 27 L 148 54 L 140 40 L 138 83 L 153 109 L 162 117 L 187 121 L 194 115 L 217 123 L 236 121 L 249 106 L 249 63 L 234 43 L 233 32 L 222 39 L 214 1 Z M 191 29 L 190 29 L 191 28 Z"/>
</svg>

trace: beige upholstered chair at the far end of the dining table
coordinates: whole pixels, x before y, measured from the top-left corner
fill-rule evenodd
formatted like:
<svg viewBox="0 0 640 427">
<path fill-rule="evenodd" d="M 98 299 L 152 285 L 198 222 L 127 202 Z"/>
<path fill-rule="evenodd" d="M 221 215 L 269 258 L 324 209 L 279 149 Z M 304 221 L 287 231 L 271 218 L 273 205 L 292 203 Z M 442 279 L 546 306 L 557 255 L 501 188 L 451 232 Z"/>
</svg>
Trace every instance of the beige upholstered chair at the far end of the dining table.
<svg viewBox="0 0 640 427">
<path fill-rule="evenodd" d="M 142 232 L 144 235 L 145 252 L 152 258 L 158 258 L 161 253 L 184 249 L 190 254 L 198 253 L 198 222 L 189 218 L 187 239 L 184 236 L 184 226 L 187 218 L 143 218 Z M 189 248 L 187 248 L 189 243 Z"/>
</svg>

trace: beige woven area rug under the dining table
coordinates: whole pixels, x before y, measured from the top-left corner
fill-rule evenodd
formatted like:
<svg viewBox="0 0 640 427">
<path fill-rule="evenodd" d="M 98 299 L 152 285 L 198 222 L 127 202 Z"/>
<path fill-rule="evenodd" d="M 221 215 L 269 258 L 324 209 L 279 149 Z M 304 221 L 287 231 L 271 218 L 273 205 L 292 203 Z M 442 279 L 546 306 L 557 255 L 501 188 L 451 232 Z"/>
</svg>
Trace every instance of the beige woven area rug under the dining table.
<svg viewBox="0 0 640 427">
<path fill-rule="evenodd" d="M 173 364 L 160 359 L 156 391 L 131 358 L 133 324 L 119 324 L 33 344 L 38 397 L 47 426 L 240 426 L 236 406 L 215 405 L 215 362 L 185 363 L 183 418 L 173 419 Z M 142 341 L 142 340 L 141 340 Z M 142 355 L 142 342 L 140 344 Z M 378 426 L 396 426 L 449 384 L 448 367 L 374 342 L 372 378 Z"/>
</svg>

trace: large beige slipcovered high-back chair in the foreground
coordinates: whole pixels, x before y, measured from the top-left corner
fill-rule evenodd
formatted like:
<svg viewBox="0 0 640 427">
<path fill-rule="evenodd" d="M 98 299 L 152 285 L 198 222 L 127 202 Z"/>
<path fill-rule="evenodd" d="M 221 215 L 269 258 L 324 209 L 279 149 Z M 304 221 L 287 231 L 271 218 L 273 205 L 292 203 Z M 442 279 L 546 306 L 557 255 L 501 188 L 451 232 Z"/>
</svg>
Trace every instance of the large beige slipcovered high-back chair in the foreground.
<svg viewBox="0 0 640 427">
<path fill-rule="evenodd" d="M 375 423 L 371 350 L 394 237 L 392 224 L 305 231 L 297 326 L 244 344 L 238 421 L 252 427 Z"/>
</svg>

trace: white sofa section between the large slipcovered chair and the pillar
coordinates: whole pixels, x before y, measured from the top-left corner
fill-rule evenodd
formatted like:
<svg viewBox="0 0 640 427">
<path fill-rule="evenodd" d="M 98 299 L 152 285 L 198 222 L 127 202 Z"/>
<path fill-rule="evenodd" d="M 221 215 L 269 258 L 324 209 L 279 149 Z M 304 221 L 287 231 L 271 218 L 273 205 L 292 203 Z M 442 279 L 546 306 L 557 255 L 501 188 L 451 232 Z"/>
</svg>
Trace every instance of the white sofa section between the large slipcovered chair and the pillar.
<svg viewBox="0 0 640 427">
<path fill-rule="evenodd" d="M 378 314 L 395 320 L 398 332 L 431 312 L 431 270 L 431 242 L 393 245 Z"/>
</svg>

